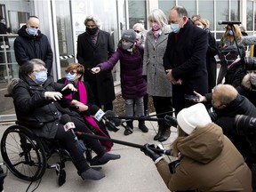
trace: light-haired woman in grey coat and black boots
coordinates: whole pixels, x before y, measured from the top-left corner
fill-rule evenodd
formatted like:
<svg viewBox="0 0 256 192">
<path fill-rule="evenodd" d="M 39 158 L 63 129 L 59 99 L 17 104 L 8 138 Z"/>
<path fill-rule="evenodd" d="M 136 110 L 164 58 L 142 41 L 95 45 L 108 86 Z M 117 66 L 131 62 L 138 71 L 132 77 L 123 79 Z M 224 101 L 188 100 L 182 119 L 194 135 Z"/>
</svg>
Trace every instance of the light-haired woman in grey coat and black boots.
<svg viewBox="0 0 256 192">
<path fill-rule="evenodd" d="M 159 9 L 153 10 L 148 16 L 151 29 L 145 41 L 143 58 L 143 76 L 147 76 L 147 92 L 153 98 L 156 116 L 172 111 L 172 84 L 166 78 L 163 57 L 167 39 L 171 29 L 167 27 L 167 19 Z M 169 113 L 172 116 L 172 113 Z M 154 140 L 164 141 L 170 137 L 170 126 L 158 122 L 158 132 Z"/>
</svg>

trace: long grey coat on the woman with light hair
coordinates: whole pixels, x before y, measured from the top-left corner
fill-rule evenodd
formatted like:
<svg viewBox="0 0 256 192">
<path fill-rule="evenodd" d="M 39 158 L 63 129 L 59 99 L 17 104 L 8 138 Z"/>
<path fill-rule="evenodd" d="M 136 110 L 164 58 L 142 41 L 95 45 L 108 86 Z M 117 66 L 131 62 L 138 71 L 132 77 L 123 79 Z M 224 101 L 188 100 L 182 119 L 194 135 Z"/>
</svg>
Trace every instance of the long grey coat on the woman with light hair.
<svg viewBox="0 0 256 192">
<path fill-rule="evenodd" d="M 164 28 L 155 42 L 152 31 L 148 31 L 143 57 L 143 72 L 147 76 L 147 92 L 152 96 L 172 97 L 172 83 L 166 78 L 163 57 L 170 28 Z"/>
</svg>

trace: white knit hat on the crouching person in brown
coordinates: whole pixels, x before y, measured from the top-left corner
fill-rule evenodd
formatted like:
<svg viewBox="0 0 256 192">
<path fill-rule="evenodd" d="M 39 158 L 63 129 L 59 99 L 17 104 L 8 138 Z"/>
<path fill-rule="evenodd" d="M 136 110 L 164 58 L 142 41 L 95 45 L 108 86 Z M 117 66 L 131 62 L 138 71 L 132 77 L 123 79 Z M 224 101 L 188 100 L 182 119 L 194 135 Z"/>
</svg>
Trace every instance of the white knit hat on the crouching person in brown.
<svg viewBox="0 0 256 192">
<path fill-rule="evenodd" d="M 177 121 L 180 128 L 187 134 L 193 132 L 196 126 L 212 123 L 211 117 L 202 103 L 180 110 Z"/>
</svg>

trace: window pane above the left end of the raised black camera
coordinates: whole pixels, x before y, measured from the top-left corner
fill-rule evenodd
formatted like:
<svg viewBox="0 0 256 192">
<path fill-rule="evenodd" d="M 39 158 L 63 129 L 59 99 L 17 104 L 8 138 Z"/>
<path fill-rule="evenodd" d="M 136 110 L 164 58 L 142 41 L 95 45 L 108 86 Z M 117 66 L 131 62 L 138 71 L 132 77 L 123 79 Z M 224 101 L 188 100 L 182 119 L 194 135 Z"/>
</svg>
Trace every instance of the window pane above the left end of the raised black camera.
<svg viewBox="0 0 256 192">
<path fill-rule="evenodd" d="M 219 25 L 219 20 L 229 20 L 228 0 L 216 0 L 216 30 L 223 30 L 223 25 Z M 217 38 L 217 36 L 216 36 Z"/>
</svg>

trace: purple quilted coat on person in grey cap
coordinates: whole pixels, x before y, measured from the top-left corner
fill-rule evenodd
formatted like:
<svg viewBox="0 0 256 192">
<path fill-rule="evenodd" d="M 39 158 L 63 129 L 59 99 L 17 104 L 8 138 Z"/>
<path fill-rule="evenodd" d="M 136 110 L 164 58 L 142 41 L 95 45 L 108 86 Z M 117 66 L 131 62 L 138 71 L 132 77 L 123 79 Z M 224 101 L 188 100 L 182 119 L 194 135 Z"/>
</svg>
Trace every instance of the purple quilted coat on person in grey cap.
<svg viewBox="0 0 256 192">
<path fill-rule="evenodd" d="M 147 83 L 142 78 L 143 52 L 141 45 L 136 45 L 135 52 L 128 52 L 118 47 L 108 61 L 97 65 L 101 70 L 109 70 L 120 60 L 121 88 L 124 100 L 137 99 L 147 93 Z"/>
</svg>

